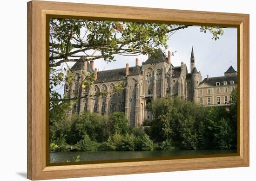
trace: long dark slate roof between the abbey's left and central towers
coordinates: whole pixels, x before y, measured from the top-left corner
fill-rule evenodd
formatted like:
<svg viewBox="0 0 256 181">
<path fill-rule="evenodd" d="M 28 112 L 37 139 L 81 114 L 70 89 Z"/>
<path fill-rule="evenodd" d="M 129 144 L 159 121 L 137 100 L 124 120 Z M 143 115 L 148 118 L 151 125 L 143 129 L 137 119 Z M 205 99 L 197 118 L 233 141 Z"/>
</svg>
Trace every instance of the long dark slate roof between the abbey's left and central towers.
<svg viewBox="0 0 256 181">
<path fill-rule="evenodd" d="M 97 73 L 97 80 L 95 82 L 99 83 L 99 82 L 126 80 L 127 78 L 125 76 L 125 69 L 126 68 L 99 71 Z M 140 66 L 129 67 L 129 75 L 138 75 L 138 74 L 141 74 Z"/>
</svg>

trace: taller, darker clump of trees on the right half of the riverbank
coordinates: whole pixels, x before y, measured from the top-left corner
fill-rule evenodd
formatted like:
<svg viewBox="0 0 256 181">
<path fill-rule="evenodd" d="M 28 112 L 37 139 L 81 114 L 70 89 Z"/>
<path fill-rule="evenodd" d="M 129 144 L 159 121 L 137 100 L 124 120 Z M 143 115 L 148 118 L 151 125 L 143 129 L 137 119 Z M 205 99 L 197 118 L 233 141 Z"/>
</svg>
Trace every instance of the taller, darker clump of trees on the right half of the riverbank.
<svg viewBox="0 0 256 181">
<path fill-rule="evenodd" d="M 154 120 L 146 133 L 154 142 L 169 142 L 177 149 L 235 149 L 237 98 L 231 106 L 202 107 L 180 98 L 165 97 L 147 105 Z"/>
</svg>

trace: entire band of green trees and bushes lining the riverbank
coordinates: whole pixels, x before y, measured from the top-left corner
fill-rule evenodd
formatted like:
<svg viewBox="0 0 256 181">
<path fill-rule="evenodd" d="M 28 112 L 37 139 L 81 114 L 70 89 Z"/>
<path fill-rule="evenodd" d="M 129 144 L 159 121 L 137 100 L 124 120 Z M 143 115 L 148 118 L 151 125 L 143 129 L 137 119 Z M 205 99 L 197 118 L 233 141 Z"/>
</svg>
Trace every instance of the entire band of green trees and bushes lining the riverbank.
<svg viewBox="0 0 256 181">
<path fill-rule="evenodd" d="M 67 145 L 74 145 L 79 151 L 236 149 L 236 95 L 235 90 L 229 109 L 202 107 L 178 97 L 156 99 L 146 106 L 154 120 L 145 120 L 144 129 L 130 128 L 124 112 L 110 116 L 83 112 L 73 115 L 70 121 L 61 111 L 67 105 L 53 105 L 50 149 L 62 151 Z"/>
</svg>

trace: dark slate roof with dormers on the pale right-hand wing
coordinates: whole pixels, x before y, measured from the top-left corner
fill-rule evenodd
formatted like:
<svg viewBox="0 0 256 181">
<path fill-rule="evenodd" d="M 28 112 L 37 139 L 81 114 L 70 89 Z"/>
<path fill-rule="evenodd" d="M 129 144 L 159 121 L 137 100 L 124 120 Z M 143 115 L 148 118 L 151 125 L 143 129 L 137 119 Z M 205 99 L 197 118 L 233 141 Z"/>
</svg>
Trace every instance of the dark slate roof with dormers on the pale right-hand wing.
<svg viewBox="0 0 256 181">
<path fill-rule="evenodd" d="M 208 83 L 212 86 L 216 86 L 216 82 L 220 82 L 220 85 L 224 85 L 223 82 L 226 81 L 228 84 L 230 84 L 230 81 L 234 81 L 234 83 L 237 83 L 237 75 L 232 76 L 221 76 L 221 77 L 210 77 L 209 80 L 205 78 L 202 82 L 200 82 L 199 86 L 203 83 Z"/>
</svg>

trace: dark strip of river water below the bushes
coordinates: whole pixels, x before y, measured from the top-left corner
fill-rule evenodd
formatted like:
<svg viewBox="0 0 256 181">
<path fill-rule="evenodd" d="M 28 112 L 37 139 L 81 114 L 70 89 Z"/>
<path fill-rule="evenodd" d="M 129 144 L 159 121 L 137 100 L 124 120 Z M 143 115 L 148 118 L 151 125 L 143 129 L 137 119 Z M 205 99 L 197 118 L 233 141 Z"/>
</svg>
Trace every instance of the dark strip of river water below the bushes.
<svg viewBox="0 0 256 181">
<path fill-rule="evenodd" d="M 133 158 L 155 158 L 172 156 L 200 156 L 212 154 L 237 153 L 237 150 L 172 150 L 172 151 L 84 151 L 50 152 L 50 162 L 74 162 L 73 157 L 80 156 L 80 161 L 118 160 Z"/>
</svg>

